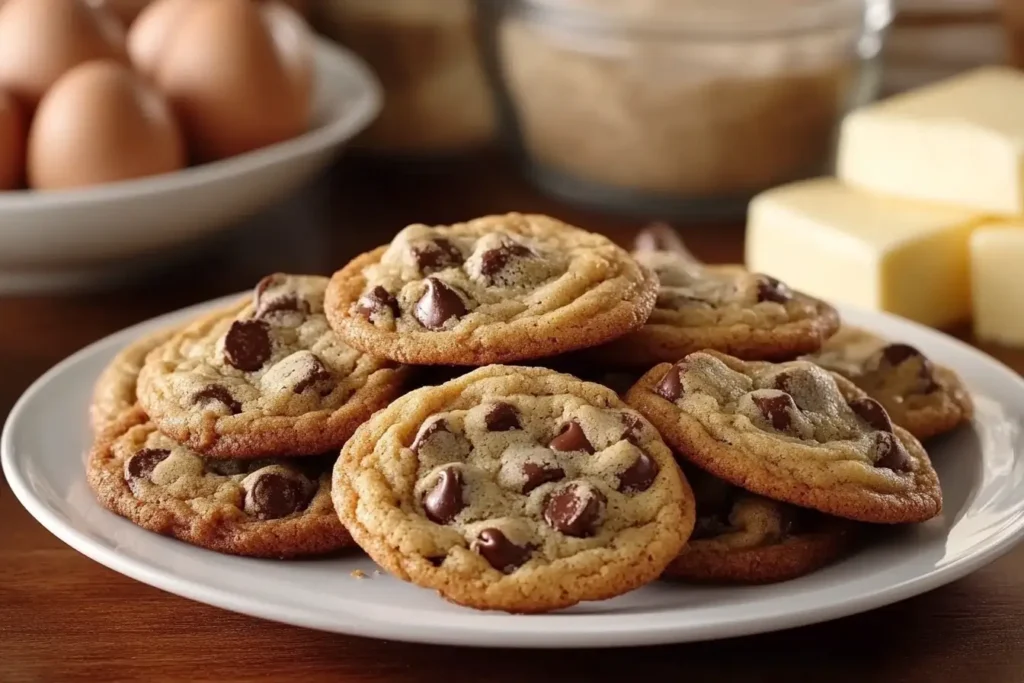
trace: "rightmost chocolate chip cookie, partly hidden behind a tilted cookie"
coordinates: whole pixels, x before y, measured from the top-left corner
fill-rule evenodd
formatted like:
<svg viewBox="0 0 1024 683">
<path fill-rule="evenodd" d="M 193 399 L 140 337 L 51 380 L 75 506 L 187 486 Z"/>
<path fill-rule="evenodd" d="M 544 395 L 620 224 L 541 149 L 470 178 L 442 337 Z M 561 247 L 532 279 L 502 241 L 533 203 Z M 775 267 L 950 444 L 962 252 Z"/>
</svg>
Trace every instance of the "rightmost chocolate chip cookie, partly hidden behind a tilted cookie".
<svg viewBox="0 0 1024 683">
<path fill-rule="evenodd" d="M 839 373 L 882 403 L 893 422 L 926 439 L 970 422 L 974 404 L 953 371 L 908 344 L 844 326 L 807 359 Z"/>
</svg>

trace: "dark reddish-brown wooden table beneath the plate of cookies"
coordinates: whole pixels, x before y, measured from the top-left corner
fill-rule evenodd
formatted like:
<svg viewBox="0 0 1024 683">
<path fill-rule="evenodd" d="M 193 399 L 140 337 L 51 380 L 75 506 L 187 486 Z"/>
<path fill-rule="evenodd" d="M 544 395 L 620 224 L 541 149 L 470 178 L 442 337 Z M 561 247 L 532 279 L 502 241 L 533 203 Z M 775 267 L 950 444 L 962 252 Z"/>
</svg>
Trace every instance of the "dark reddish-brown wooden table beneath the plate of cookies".
<svg viewBox="0 0 1024 683">
<path fill-rule="evenodd" d="M 125 326 L 246 289 L 275 269 L 329 273 L 410 222 L 509 210 L 549 212 L 624 244 L 636 228 L 545 199 L 493 157 L 400 174 L 345 162 L 144 283 L 74 297 L 0 298 L 0 416 L 47 368 Z M 706 260 L 740 258 L 738 224 L 688 228 L 684 237 Z M 1024 370 L 1024 354 L 986 350 Z M 927 595 L 782 633 L 588 652 L 473 650 L 306 631 L 163 593 L 65 546 L 0 483 L 2 683 L 705 679 L 1024 681 L 1024 547 Z"/>
</svg>

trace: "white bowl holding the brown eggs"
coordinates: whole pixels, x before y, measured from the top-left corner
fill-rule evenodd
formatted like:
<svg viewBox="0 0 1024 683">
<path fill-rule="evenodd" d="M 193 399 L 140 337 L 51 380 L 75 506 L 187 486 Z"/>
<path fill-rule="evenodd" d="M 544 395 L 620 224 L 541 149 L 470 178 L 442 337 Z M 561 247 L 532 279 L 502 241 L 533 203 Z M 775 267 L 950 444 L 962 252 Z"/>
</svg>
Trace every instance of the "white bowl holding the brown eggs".
<svg viewBox="0 0 1024 683">
<path fill-rule="evenodd" d="M 151 263 L 284 199 L 378 114 L 381 88 L 317 39 L 313 125 L 299 137 L 175 173 L 58 191 L 0 191 L 0 292 L 78 288 Z M 147 256 L 139 260 L 136 257 Z"/>
</svg>

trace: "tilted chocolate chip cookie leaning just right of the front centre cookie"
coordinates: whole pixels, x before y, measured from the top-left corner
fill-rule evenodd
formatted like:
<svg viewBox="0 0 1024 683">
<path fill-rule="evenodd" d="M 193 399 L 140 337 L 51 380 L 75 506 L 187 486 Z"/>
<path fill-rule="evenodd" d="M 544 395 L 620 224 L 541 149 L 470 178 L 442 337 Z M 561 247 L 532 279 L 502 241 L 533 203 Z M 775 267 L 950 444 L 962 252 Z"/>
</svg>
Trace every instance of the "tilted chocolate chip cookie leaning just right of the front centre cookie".
<svg viewBox="0 0 1024 683">
<path fill-rule="evenodd" d="M 942 509 L 918 439 L 852 382 L 812 362 L 698 351 L 651 369 L 627 402 L 681 456 L 766 498 L 879 523 L 924 521 Z"/>
</svg>

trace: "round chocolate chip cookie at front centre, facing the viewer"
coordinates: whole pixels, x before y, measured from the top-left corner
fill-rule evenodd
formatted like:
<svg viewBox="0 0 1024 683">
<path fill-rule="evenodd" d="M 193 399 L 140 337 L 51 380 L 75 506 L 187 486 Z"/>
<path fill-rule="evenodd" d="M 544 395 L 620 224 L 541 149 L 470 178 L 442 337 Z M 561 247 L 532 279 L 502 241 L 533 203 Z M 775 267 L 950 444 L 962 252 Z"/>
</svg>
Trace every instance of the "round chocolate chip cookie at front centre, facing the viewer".
<svg viewBox="0 0 1024 683">
<path fill-rule="evenodd" d="M 396 577 L 541 612 L 657 578 L 693 526 L 660 436 L 613 391 L 490 366 L 379 412 L 345 444 L 335 507 Z"/>
</svg>

